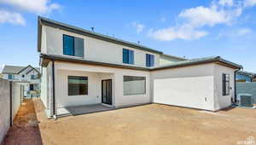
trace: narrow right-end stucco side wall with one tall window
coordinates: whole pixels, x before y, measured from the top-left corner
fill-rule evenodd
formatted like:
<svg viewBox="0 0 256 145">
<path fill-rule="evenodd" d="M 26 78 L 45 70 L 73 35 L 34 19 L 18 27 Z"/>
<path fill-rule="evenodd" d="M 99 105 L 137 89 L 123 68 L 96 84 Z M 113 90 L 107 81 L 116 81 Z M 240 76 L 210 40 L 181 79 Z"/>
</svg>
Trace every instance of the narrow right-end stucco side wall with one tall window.
<svg viewBox="0 0 256 145">
<path fill-rule="evenodd" d="M 230 75 L 230 96 L 223 96 L 222 92 L 222 75 L 223 73 Z M 231 105 L 231 97 L 235 100 L 235 78 L 234 78 L 235 70 L 229 67 L 223 67 L 220 65 L 214 65 L 214 109 L 222 109 L 225 107 L 230 107 Z"/>
</svg>

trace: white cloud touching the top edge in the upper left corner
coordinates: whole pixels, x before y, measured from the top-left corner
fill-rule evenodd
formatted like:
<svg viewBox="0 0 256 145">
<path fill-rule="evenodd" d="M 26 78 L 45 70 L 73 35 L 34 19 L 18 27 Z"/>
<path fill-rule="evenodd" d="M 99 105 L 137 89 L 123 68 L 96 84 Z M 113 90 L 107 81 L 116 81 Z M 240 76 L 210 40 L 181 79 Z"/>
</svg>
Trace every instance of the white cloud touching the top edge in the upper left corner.
<svg viewBox="0 0 256 145">
<path fill-rule="evenodd" d="M 9 4 L 15 8 L 36 14 L 48 14 L 54 9 L 61 8 L 61 5 L 50 3 L 50 0 L 0 0 L 0 3 Z"/>
</svg>

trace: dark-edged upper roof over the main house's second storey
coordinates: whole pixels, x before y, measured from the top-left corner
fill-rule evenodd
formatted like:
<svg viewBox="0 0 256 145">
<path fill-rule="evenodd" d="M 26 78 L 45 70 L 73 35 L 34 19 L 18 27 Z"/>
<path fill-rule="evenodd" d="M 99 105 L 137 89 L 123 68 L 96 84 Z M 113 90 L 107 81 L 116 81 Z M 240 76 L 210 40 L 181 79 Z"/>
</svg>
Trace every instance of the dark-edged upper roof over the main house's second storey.
<svg viewBox="0 0 256 145">
<path fill-rule="evenodd" d="M 141 45 L 141 44 L 131 43 L 131 42 L 128 42 L 128 41 L 125 41 L 125 40 L 121 40 L 119 38 L 113 38 L 113 37 L 110 37 L 108 35 L 103 35 L 101 33 L 85 30 L 85 29 L 79 28 L 77 26 L 67 25 L 67 24 L 61 23 L 59 21 L 50 20 L 48 18 L 44 18 L 44 17 L 41 17 L 41 16 L 38 16 L 38 52 L 41 52 L 42 25 L 52 26 L 52 27 L 55 27 L 55 28 L 60 28 L 62 30 L 66 30 L 68 32 L 79 33 L 81 35 L 85 35 L 85 36 L 88 36 L 88 37 L 91 37 L 91 38 L 101 39 L 101 40 L 108 41 L 108 42 L 111 42 L 111 43 L 114 43 L 114 44 L 122 44 L 122 45 L 125 45 L 127 47 L 132 47 L 134 49 L 142 49 L 142 50 L 148 51 L 148 52 L 163 54 L 161 51 L 158 51 L 156 49 L 148 48 L 147 46 L 144 46 L 144 45 Z"/>
</svg>

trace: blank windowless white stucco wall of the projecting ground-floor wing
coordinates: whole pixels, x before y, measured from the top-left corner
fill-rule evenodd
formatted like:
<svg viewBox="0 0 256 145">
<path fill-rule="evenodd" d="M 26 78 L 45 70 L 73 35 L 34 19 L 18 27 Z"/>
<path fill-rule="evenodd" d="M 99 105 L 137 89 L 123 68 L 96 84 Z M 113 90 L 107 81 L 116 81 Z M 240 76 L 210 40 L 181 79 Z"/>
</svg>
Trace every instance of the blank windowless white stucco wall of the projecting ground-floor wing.
<svg viewBox="0 0 256 145">
<path fill-rule="evenodd" d="M 154 71 L 153 102 L 213 110 L 213 82 L 213 64 Z"/>
</svg>

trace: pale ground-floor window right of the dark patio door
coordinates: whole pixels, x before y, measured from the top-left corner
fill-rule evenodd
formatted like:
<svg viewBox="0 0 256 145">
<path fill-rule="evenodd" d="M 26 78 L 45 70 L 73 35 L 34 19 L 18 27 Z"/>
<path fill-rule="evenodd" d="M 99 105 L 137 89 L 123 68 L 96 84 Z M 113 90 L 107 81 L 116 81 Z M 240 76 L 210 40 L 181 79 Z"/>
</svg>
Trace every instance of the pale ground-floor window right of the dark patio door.
<svg viewBox="0 0 256 145">
<path fill-rule="evenodd" d="M 124 96 L 146 94 L 146 78 L 124 76 Z"/>
</svg>

